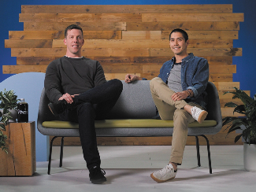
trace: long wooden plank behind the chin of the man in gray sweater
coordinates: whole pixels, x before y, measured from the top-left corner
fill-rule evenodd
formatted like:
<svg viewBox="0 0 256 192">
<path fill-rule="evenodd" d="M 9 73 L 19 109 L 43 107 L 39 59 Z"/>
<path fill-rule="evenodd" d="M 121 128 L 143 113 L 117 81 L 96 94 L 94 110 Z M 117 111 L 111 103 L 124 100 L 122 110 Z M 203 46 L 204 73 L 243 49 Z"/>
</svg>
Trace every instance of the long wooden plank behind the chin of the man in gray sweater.
<svg viewBox="0 0 256 192">
<path fill-rule="evenodd" d="M 13 48 L 12 57 L 63 57 L 66 48 Z M 83 48 L 83 57 L 149 57 L 149 49 Z"/>
</svg>

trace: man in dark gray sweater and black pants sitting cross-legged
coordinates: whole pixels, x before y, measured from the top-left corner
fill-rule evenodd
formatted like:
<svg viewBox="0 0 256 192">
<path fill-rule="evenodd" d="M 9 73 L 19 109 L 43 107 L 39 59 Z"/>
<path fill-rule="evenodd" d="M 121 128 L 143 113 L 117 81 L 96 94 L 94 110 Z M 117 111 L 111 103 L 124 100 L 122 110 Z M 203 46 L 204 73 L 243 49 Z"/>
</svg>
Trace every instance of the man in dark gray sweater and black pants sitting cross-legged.
<svg viewBox="0 0 256 192">
<path fill-rule="evenodd" d="M 78 122 L 83 157 L 91 183 L 106 181 L 100 168 L 95 120 L 104 120 L 119 98 L 123 84 L 118 79 L 106 82 L 98 61 L 82 57 L 83 30 L 72 24 L 65 29 L 66 54 L 46 69 L 44 87 L 49 108 L 61 120 Z"/>
</svg>

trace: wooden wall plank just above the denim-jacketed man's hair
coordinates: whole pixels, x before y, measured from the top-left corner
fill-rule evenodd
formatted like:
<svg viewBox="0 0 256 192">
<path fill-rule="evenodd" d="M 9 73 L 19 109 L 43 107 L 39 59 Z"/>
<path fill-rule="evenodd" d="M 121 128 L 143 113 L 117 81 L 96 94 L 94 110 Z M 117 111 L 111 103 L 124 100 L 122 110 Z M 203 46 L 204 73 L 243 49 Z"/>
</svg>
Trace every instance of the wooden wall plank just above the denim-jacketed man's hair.
<svg viewBox="0 0 256 192">
<path fill-rule="evenodd" d="M 172 21 L 172 22 L 127 22 L 127 31 L 169 31 L 170 28 L 182 28 L 185 31 L 233 31 L 239 30 L 239 22 L 215 22 L 215 21 Z"/>
</svg>

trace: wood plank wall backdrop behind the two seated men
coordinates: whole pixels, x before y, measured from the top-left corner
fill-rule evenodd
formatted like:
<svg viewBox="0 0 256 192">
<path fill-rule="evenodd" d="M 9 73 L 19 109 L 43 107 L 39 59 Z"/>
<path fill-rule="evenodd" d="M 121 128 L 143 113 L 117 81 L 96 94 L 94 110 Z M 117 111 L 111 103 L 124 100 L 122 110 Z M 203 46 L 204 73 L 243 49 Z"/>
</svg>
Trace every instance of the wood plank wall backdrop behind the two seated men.
<svg viewBox="0 0 256 192">
<path fill-rule="evenodd" d="M 127 73 L 152 79 L 173 57 L 170 31 L 183 28 L 190 39 L 188 52 L 209 61 L 222 116 L 233 115 L 232 109 L 224 109 L 232 95 L 223 93 L 239 87 L 239 82 L 232 81 L 236 73 L 232 57 L 242 56 L 242 48 L 233 47 L 233 39 L 239 38 L 243 13 L 232 13 L 232 5 L 22 6 L 20 22 L 24 31 L 9 31 L 5 40 L 12 57 L 17 57 L 17 65 L 3 66 L 6 74 L 45 72 L 50 61 L 65 55 L 65 28 L 78 24 L 85 39 L 83 56 L 100 61 L 106 79 L 124 79 Z M 226 138 L 224 128 L 217 135 L 207 135 L 211 145 L 234 144 L 237 134 Z M 189 137 L 187 145 L 195 145 L 194 140 Z M 80 145 L 79 138 L 65 141 Z M 172 137 L 98 138 L 99 145 L 170 145 L 171 141 Z"/>
</svg>

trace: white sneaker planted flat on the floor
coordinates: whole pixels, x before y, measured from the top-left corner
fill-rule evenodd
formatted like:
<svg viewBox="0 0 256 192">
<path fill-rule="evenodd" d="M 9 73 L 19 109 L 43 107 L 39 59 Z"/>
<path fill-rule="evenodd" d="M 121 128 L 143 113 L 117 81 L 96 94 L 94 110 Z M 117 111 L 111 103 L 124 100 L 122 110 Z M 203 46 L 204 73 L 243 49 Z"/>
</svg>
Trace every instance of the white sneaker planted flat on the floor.
<svg viewBox="0 0 256 192">
<path fill-rule="evenodd" d="M 173 164 L 167 164 L 165 168 L 159 170 L 158 172 L 151 173 L 150 177 L 154 179 L 154 181 L 161 183 L 174 179 L 176 172 L 177 170 L 174 170 Z"/>
</svg>

